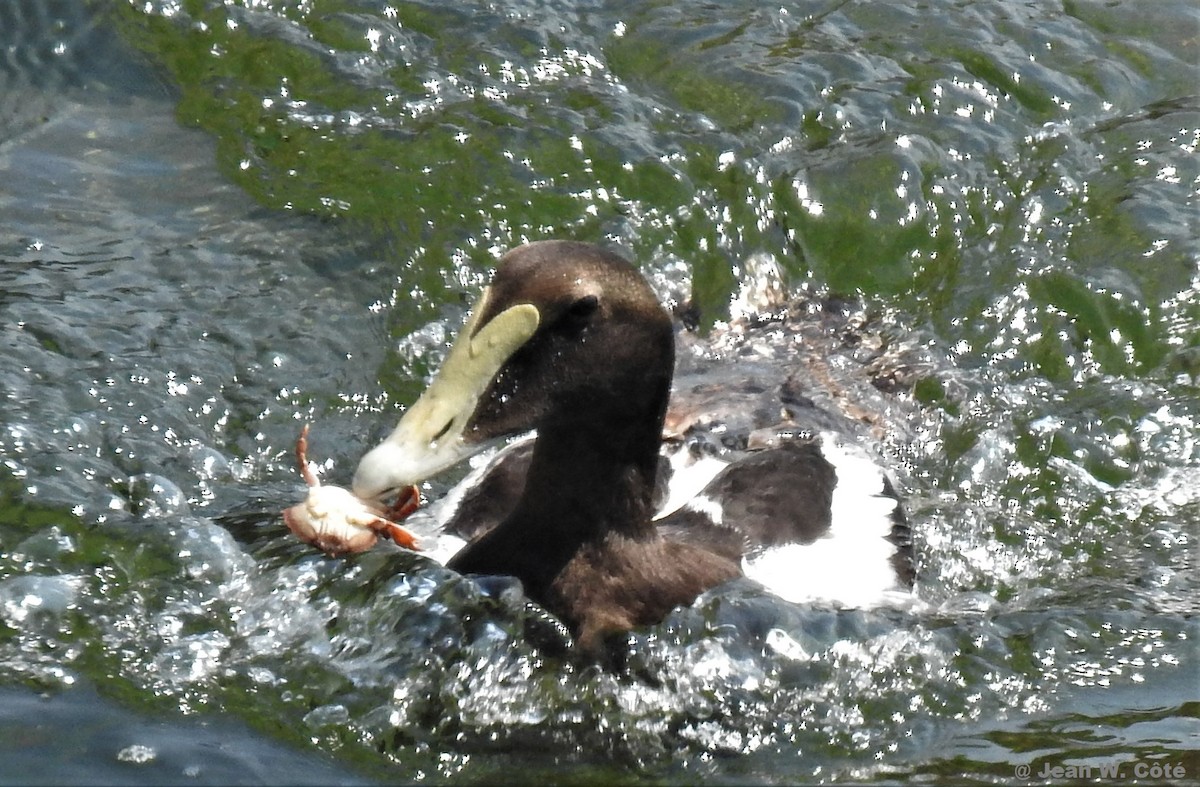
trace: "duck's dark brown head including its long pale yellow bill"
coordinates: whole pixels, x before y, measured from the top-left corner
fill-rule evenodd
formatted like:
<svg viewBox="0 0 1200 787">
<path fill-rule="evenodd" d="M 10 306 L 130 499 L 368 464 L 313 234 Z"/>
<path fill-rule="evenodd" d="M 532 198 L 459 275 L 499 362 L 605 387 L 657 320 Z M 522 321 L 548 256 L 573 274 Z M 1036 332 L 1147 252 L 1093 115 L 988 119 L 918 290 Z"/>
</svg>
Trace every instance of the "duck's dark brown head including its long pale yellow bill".
<svg viewBox="0 0 1200 787">
<path fill-rule="evenodd" d="M 653 455 L 673 353 L 671 319 L 625 259 L 571 241 L 515 248 L 433 383 L 362 457 L 354 493 L 386 497 L 530 429 Z"/>
</svg>

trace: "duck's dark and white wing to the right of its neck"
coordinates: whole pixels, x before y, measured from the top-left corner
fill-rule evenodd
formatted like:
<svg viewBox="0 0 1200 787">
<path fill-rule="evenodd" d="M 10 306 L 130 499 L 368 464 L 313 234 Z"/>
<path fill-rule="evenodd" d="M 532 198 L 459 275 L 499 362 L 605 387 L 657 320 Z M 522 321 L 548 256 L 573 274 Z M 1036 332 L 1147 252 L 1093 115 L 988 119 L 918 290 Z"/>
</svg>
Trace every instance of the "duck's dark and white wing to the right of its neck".
<svg viewBox="0 0 1200 787">
<path fill-rule="evenodd" d="M 875 606 L 912 587 L 908 525 L 890 482 L 832 434 L 731 462 L 659 530 L 740 557 L 746 576 L 791 601 Z"/>
</svg>

